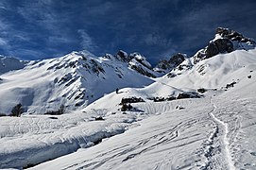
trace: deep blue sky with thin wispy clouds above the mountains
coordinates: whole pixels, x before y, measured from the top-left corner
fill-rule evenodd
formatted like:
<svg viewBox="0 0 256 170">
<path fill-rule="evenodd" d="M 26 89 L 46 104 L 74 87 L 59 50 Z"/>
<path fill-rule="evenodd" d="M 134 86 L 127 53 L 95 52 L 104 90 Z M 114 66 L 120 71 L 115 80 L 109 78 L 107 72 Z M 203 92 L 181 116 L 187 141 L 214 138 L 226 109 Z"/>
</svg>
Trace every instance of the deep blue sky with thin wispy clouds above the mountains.
<svg viewBox="0 0 256 170">
<path fill-rule="evenodd" d="M 215 28 L 256 39 L 255 0 L 0 0 L 0 54 L 46 59 L 86 49 L 151 62 L 193 55 Z"/>
</svg>

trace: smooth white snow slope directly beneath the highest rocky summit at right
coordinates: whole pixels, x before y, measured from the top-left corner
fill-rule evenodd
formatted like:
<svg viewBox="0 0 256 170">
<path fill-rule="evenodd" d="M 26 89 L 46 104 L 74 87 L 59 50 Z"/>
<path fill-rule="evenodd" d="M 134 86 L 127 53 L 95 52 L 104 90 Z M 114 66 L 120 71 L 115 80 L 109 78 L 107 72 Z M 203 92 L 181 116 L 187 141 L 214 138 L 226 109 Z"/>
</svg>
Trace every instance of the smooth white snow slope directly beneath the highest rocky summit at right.
<svg viewBox="0 0 256 170">
<path fill-rule="evenodd" d="M 189 65 L 188 63 L 191 62 L 185 60 L 180 65 Z M 200 60 L 189 69 L 177 68 L 159 78 L 159 81 L 177 88 L 220 89 L 248 76 L 251 69 L 255 68 L 255 63 L 256 49 L 236 50 L 228 54 L 216 55 L 211 59 Z"/>
</svg>

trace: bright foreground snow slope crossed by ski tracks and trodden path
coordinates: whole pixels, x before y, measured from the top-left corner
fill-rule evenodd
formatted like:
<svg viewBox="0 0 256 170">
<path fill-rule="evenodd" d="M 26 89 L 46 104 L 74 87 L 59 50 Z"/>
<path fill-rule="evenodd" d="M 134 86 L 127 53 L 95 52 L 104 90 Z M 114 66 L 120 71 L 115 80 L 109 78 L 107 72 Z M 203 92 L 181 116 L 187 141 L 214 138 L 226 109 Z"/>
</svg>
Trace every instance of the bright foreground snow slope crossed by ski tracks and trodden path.
<svg viewBox="0 0 256 170">
<path fill-rule="evenodd" d="M 160 112 L 31 169 L 255 169 L 255 82 L 237 86 L 204 99 L 138 104 L 145 113 Z"/>
</svg>

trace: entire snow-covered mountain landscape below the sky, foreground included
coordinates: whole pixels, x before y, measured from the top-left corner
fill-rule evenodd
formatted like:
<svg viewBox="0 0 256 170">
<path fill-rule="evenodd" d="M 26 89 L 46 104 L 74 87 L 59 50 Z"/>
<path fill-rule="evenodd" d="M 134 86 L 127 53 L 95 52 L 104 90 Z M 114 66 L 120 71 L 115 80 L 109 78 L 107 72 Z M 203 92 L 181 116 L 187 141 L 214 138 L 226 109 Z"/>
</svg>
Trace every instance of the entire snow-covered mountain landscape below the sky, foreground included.
<svg viewBox="0 0 256 170">
<path fill-rule="evenodd" d="M 70 113 L 1 117 L 0 168 L 255 169 L 256 48 L 230 34 L 218 28 L 210 43 L 231 51 L 204 56 L 208 45 L 155 68 L 139 53 L 82 51 L 1 75 L 12 106 Z"/>
</svg>

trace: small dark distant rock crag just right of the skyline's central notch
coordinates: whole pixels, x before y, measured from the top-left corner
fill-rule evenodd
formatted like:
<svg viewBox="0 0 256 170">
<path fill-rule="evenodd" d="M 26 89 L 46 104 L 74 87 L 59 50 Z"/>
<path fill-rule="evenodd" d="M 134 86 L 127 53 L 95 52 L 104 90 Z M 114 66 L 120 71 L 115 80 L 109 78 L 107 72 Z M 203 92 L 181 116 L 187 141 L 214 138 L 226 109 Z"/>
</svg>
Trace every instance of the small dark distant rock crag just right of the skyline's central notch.
<svg viewBox="0 0 256 170">
<path fill-rule="evenodd" d="M 172 56 L 169 60 L 162 59 L 159 61 L 157 66 L 154 68 L 155 71 L 160 73 L 167 73 L 174 69 L 175 67 L 179 66 L 181 62 L 183 62 L 186 58 L 186 55 L 178 53 Z"/>
</svg>

